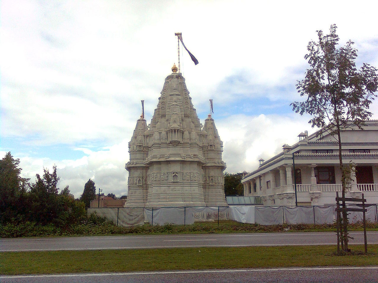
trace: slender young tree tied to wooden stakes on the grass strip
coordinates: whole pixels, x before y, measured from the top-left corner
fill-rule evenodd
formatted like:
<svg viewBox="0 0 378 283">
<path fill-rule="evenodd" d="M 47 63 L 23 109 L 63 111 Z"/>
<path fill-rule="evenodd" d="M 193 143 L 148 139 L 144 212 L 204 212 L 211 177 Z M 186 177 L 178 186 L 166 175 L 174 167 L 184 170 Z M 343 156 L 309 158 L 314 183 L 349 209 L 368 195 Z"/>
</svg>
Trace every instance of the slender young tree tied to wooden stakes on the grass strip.
<svg viewBox="0 0 378 283">
<path fill-rule="evenodd" d="M 345 197 L 350 170 L 344 168 L 341 155 L 341 130 L 364 126 L 372 113 L 368 111 L 372 100 L 377 95 L 377 69 L 364 63 L 356 68 L 357 49 L 353 42 L 338 46 L 339 37 L 336 25 L 330 27 L 330 34 L 318 32 L 318 42 L 308 43 L 308 54 L 305 59 L 310 69 L 305 78 L 297 83 L 301 96 L 307 97 L 304 102 L 293 102 L 293 111 L 313 116 L 308 122 L 312 127 L 321 128 L 322 132 L 332 134 L 339 144 L 339 164 L 342 172 L 342 197 Z M 345 201 L 342 206 L 345 208 Z M 341 243 L 344 252 L 348 248 L 347 212 L 342 213 L 343 227 Z"/>
</svg>

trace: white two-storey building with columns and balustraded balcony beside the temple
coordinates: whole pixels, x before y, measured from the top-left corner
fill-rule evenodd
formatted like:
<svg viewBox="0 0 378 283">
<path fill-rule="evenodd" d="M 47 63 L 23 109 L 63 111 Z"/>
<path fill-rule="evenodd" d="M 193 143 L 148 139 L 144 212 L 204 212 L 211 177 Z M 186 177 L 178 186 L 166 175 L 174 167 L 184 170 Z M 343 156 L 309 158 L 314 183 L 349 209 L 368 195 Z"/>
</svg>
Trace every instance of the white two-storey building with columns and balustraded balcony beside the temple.
<svg viewBox="0 0 378 283">
<path fill-rule="evenodd" d="M 367 121 L 363 128 L 341 132 L 343 163 L 356 165 L 346 197 L 364 193 L 367 203 L 378 203 L 378 120 Z M 295 185 L 298 205 L 336 203 L 336 191 L 342 188 L 338 142 L 319 131 L 298 137 L 296 144 L 283 145 L 276 156 L 260 159 L 259 168 L 243 177 L 245 196 L 260 196 L 264 205 L 295 205 Z"/>
</svg>

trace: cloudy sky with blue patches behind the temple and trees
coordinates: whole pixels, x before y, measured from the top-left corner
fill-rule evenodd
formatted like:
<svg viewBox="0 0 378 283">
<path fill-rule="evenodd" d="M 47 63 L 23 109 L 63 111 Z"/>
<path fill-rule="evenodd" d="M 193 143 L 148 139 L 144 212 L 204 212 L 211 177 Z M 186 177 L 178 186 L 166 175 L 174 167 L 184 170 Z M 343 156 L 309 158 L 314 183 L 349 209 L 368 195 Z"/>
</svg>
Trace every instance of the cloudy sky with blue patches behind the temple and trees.
<svg viewBox="0 0 378 283">
<path fill-rule="evenodd" d="M 307 44 L 338 26 L 358 66 L 378 67 L 378 2 L 372 1 L 0 1 L 0 158 L 20 159 L 35 181 L 57 166 L 59 187 L 80 197 L 91 178 L 127 194 L 128 142 L 145 100 L 147 124 L 164 78 L 177 65 L 201 123 L 213 99 L 227 172 L 251 172 L 314 132 L 297 80 Z M 377 100 L 370 106 L 378 118 Z"/>
</svg>

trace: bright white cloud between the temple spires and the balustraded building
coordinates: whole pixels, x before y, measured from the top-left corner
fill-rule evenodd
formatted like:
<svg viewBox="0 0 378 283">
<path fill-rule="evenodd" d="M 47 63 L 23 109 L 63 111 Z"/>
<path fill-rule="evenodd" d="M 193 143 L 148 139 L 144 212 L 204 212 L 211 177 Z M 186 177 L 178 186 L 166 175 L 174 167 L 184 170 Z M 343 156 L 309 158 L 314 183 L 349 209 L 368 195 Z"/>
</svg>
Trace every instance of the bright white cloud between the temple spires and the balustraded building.
<svg viewBox="0 0 378 283">
<path fill-rule="evenodd" d="M 314 129 L 297 115 L 231 115 L 215 120 L 223 141 L 223 160 L 227 172 L 251 172 L 258 167 L 258 160 L 267 160 L 282 151 L 282 145 L 297 142 L 297 135 Z"/>
</svg>

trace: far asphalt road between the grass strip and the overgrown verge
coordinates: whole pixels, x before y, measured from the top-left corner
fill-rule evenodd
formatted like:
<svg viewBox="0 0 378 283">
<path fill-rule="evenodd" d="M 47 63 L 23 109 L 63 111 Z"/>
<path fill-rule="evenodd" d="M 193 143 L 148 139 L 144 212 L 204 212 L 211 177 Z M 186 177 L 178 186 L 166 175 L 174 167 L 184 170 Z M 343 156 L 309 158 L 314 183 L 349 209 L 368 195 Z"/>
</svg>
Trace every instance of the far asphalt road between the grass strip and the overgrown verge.
<svg viewBox="0 0 378 283">
<path fill-rule="evenodd" d="M 350 244 L 363 244 L 363 232 L 350 232 Z M 367 232 L 368 244 L 378 244 L 378 231 Z M 0 252 L 184 247 L 335 245 L 335 232 L 2 238 Z"/>
</svg>

